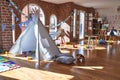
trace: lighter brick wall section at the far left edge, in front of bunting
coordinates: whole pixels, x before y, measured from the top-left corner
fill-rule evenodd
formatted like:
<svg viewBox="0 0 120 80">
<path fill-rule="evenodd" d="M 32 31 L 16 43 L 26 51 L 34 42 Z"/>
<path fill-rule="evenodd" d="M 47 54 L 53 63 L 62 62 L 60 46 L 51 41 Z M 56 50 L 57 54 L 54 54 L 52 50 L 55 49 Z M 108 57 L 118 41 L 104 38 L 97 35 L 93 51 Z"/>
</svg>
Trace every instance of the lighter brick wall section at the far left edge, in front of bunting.
<svg viewBox="0 0 120 80">
<path fill-rule="evenodd" d="M 5 31 L 0 29 L 0 49 L 9 50 L 12 46 L 11 13 L 8 2 L 0 0 L 0 28 L 2 23 L 6 24 Z"/>
</svg>

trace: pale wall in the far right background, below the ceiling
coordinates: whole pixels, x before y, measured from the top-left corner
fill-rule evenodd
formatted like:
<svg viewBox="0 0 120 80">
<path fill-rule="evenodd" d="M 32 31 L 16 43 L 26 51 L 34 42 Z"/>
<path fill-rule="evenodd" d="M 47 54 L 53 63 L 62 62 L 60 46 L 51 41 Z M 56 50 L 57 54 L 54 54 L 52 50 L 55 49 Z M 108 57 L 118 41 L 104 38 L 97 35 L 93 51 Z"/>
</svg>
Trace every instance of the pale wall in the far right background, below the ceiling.
<svg viewBox="0 0 120 80">
<path fill-rule="evenodd" d="M 120 11 L 117 11 L 117 7 L 96 9 L 96 12 L 101 18 L 107 18 L 109 28 L 114 26 L 116 29 L 120 29 Z"/>
</svg>

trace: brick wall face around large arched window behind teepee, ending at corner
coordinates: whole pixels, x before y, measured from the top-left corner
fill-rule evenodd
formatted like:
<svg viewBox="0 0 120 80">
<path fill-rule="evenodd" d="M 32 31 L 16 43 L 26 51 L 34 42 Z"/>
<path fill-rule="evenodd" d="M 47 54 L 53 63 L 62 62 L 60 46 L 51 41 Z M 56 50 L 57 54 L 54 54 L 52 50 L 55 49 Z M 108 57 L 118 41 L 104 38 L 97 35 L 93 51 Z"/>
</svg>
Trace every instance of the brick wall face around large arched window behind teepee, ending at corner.
<svg viewBox="0 0 120 80">
<path fill-rule="evenodd" d="M 38 5 L 39 7 L 42 8 L 42 10 L 44 11 L 45 14 L 45 24 L 49 25 L 50 22 L 50 16 L 51 14 L 55 14 L 57 15 L 57 10 L 58 7 L 56 4 L 52 4 L 52 3 L 48 3 L 48 2 L 44 2 L 44 1 L 40 1 L 40 0 L 13 0 L 13 2 L 22 10 L 26 5 L 28 5 L 28 3 L 33 3 Z M 14 10 L 15 14 L 19 17 L 19 19 L 21 19 L 21 14 L 18 13 L 17 10 Z M 58 17 L 57 17 L 58 18 Z M 20 20 L 21 21 L 21 20 Z M 17 22 L 16 24 L 19 24 L 19 22 Z M 21 33 L 21 30 L 18 26 L 16 26 L 15 29 L 15 37 L 16 39 L 18 38 L 18 36 Z"/>
</svg>

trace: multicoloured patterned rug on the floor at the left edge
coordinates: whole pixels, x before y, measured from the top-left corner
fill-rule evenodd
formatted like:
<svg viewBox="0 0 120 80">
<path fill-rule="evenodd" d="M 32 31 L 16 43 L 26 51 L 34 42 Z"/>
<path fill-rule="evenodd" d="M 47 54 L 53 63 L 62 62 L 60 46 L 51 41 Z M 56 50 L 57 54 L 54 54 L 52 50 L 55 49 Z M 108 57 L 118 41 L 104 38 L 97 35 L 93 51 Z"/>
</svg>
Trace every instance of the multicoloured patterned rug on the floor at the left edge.
<svg viewBox="0 0 120 80">
<path fill-rule="evenodd" d="M 0 72 L 10 71 L 20 68 L 19 64 L 0 56 Z"/>
</svg>

